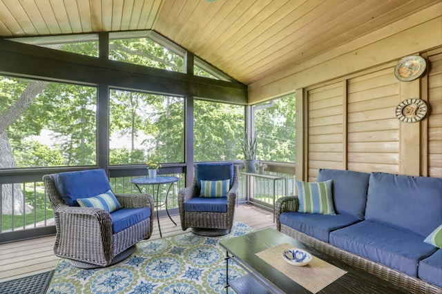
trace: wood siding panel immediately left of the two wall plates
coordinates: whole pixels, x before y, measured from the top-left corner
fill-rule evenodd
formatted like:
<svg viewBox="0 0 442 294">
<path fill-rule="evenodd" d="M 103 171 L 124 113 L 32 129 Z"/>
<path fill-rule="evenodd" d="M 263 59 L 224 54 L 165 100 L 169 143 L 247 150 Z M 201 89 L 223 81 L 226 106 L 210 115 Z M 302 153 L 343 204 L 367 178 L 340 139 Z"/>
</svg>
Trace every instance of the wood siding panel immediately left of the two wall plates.
<svg viewBox="0 0 442 294">
<path fill-rule="evenodd" d="M 347 91 L 348 169 L 398 173 L 401 99 L 392 69 L 349 79 Z"/>
</svg>

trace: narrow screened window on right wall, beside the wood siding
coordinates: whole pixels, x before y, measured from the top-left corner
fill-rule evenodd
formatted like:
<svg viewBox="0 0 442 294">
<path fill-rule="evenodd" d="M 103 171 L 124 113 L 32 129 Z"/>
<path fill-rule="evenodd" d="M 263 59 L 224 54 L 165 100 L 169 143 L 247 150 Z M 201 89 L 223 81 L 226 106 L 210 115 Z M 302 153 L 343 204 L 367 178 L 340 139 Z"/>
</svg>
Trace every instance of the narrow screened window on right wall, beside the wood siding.
<svg viewBox="0 0 442 294">
<path fill-rule="evenodd" d="M 256 159 L 295 162 L 295 95 L 253 106 L 258 138 Z"/>
</svg>

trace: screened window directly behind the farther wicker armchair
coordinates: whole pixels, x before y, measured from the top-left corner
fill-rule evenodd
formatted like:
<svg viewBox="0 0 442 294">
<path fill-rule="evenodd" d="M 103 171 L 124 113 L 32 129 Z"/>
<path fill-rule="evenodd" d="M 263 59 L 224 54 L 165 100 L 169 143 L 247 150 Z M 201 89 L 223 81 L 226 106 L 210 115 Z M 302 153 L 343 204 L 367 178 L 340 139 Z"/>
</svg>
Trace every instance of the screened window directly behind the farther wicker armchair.
<svg viewBox="0 0 442 294">
<path fill-rule="evenodd" d="M 195 161 L 236 160 L 242 156 L 244 106 L 195 100 Z"/>
</svg>

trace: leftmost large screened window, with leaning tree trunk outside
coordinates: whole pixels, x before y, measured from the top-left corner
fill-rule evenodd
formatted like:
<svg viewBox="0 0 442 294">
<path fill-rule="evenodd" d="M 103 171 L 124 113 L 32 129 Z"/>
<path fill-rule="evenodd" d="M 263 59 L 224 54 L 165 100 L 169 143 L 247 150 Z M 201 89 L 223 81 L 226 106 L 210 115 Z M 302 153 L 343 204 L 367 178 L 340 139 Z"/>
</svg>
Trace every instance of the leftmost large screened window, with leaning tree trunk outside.
<svg viewBox="0 0 442 294">
<path fill-rule="evenodd" d="M 97 164 L 94 87 L 0 76 L 0 168 Z"/>
</svg>

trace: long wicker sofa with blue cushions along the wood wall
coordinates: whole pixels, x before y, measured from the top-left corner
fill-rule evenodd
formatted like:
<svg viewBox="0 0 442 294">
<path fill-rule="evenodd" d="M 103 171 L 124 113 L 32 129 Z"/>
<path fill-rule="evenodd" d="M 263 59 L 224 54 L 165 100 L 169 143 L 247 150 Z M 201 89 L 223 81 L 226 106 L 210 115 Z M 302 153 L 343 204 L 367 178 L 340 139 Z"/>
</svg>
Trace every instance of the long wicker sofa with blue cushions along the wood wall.
<svg viewBox="0 0 442 294">
<path fill-rule="evenodd" d="M 442 224 L 442 179 L 320 169 L 329 180 L 335 215 L 282 197 L 278 230 L 412 293 L 442 293 L 442 249 L 423 242 Z"/>
</svg>

